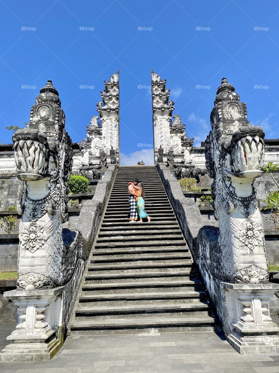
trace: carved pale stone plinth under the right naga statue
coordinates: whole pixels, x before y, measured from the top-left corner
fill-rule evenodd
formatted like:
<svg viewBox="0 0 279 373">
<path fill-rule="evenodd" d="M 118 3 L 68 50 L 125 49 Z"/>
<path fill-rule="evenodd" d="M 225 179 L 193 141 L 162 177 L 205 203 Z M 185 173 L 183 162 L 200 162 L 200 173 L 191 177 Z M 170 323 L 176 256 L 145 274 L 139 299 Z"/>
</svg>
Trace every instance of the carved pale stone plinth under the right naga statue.
<svg viewBox="0 0 279 373">
<path fill-rule="evenodd" d="M 269 301 L 279 284 L 232 284 L 221 282 L 226 312 L 223 325 L 231 332 L 228 342 L 240 354 L 279 352 L 279 328 L 272 322 Z M 225 328 L 224 328 L 225 329 Z"/>
</svg>

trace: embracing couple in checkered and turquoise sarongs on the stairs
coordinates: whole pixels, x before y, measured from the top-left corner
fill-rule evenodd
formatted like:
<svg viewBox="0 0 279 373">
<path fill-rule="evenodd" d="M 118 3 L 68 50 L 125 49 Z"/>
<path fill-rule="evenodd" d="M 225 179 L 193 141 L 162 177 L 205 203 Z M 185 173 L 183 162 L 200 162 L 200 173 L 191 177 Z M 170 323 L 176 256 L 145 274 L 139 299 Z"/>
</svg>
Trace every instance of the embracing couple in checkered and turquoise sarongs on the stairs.
<svg viewBox="0 0 279 373">
<path fill-rule="evenodd" d="M 129 223 L 136 223 L 138 220 L 138 214 L 140 216 L 140 220 L 138 223 L 142 223 L 142 218 L 147 217 L 148 223 L 151 220 L 151 217 L 144 210 L 144 186 L 142 183 L 138 181 L 138 179 L 134 179 L 132 182 L 128 184 L 128 192 L 129 192 L 129 205 L 130 205 L 130 221 Z"/>
</svg>

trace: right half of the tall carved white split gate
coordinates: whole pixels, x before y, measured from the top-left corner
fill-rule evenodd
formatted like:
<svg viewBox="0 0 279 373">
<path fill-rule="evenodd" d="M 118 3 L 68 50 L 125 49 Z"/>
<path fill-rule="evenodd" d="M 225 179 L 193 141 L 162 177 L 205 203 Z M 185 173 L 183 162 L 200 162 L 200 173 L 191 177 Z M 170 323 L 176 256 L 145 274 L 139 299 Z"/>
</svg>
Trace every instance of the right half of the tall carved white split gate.
<svg viewBox="0 0 279 373">
<path fill-rule="evenodd" d="M 159 156 L 158 150 L 163 148 L 165 161 L 167 153 L 173 150 L 174 155 L 184 163 L 189 160 L 189 148 L 193 145 L 194 138 L 189 138 L 185 133 L 185 123 L 182 123 L 180 115 L 175 114 L 171 122 L 175 108 L 174 102 L 169 100 L 170 90 L 166 88 L 166 82 L 166 79 L 162 80 L 161 76 L 151 69 L 155 162 Z"/>
</svg>

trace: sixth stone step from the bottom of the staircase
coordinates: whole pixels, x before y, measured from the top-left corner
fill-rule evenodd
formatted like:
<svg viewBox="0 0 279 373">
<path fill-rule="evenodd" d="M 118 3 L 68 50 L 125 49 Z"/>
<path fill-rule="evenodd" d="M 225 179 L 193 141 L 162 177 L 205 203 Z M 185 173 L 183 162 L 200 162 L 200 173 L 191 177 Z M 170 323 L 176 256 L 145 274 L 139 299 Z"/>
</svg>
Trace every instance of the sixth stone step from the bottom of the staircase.
<svg viewBox="0 0 279 373">
<path fill-rule="evenodd" d="M 152 272 L 179 272 L 186 269 L 192 269 L 195 267 L 193 262 L 187 260 L 179 261 L 177 263 L 138 263 L 138 264 L 110 264 L 106 266 L 88 266 L 88 274 L 101 275 L 104 273 L 117 274 L 122 273 L 145 273 L 152 269 Z"/>
</svg>

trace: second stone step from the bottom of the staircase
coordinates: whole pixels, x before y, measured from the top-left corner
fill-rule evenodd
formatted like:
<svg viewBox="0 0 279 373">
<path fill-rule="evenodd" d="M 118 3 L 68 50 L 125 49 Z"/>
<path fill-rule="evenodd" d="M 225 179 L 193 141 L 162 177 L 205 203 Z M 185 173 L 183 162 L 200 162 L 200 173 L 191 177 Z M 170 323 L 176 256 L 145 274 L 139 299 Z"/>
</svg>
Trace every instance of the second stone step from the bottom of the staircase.
<svg viewBox="0 0 279 373">
<path fill-rule="evenodd" d="M 177 303 L 177 304 L 138 304 L 124 306 L 79 307 L 76 310 L 77 321 L 102 320 L 131 317 L 182 317 L 182 316 L 209 316 L 210 309 L 207 303 Z"/>
</svg>

